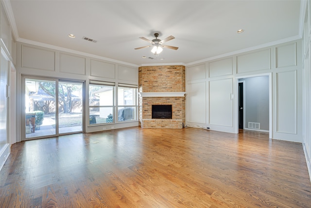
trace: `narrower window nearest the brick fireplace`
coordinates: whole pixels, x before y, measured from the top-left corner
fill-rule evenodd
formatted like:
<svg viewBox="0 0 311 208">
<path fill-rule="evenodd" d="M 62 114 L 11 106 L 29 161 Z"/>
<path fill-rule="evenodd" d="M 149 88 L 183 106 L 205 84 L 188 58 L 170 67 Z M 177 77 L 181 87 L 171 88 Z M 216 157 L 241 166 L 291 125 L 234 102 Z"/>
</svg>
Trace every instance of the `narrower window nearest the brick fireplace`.
<svg viewBox="0 0 311 208">
<path fill-rule="evenodd" d="M 118 85 L 118 122 L 137 120 L 137 86 Z"/>
</svg>

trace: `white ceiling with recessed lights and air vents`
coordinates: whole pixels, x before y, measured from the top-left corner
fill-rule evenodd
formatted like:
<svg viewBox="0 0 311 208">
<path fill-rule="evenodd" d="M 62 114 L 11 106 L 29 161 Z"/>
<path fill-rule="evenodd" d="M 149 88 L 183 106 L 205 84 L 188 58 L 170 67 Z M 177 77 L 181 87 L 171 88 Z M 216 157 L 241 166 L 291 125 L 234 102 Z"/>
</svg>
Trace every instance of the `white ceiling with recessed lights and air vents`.
<svg viewBox="0 0 311 208">
<path fill-rule="evenodd" d="M 193 64 L 301 38 L 300 0 L 10 0 L 17 41 L 133 65 Z M 244 29 L 238 34 L 237 30 Z M 174 36 L 156 57 L 139 39 Z M 74 34 L 76 38 L 69 38 Z M 90 42 L 83 37 L 97 40 Z M 52 47 L 52 48 L 53 48 Z M 142 58 L 147 57 L 147 58 Z M 150 59 L 148 57 L 153 57 Z M 163 58 L 163 59 L 162 59 Z"/>
</svg>

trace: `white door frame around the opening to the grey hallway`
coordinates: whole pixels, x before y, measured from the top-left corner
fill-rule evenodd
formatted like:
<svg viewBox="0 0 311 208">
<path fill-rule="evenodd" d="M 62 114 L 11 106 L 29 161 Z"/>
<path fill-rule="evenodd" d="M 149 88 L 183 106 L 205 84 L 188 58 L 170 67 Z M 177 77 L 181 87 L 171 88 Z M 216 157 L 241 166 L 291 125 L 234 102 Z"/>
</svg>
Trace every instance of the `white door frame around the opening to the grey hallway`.
<svg viewBox="0 0 311 208">
<path fill-rule="evenodd" d="M 272 139 L 272 118 L 273 118 L 273 114 L 272 114 L 272 73 L 264 73 L 264 74 L 256 74 L 256 75 L 246 75 L 246 76 L 236 76 L 235 77 L 235 83 L 236 83 L 236 87 L 235 87 L 235 92 L 236 95 L 238 95 L 239 93 L 239 79 L 241 78 L 250 78 L 250 77 L 257 77 L 257 76 L 268 76 L 269 77 L 269 139 Z M 245 96 L 243 98 L 245 100 Z M 239 133 L 239 99 L 235 99 L 235 106 L 236 106 L 236 110 L 235 110 L 235 114 L 236 114 L 236 125 L 235 125 L 235 130 L 236 133 Z M 245 109 L 245 106 L 244 106 Z M 245 112 L 244 112 L 244 118 L 245 118 Z M 245 120 L 244 120 L 245 123 Z M 245 128 L 245 124 L 244 124 L 244 128 Z"/>
</svg>

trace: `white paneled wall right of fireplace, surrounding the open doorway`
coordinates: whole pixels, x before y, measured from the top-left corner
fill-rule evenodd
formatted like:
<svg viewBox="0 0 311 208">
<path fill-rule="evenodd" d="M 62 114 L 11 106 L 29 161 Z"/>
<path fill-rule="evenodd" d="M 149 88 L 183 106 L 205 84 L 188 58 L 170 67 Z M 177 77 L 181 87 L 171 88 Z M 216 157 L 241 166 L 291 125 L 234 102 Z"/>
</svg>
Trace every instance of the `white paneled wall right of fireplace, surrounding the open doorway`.
<svg viewBox="0 0 311 208">
<path fill-rule="evenodd" d="M 237 133 L 238 79 L 269 75 L 270 137 L 302 142 L 302 64 L 298 60 L 301 40 L 187 66 L 186 125 Z M 193 84 L 198 81 L 205 82 L 208 90 L 196 87 L 194 93 Z M 200 101 L 197 95 L 203 96 L 200 104 L 193 102 Z M 193 119 L 201 105 L 207 108 L 206 114 Z"/>
</svg>

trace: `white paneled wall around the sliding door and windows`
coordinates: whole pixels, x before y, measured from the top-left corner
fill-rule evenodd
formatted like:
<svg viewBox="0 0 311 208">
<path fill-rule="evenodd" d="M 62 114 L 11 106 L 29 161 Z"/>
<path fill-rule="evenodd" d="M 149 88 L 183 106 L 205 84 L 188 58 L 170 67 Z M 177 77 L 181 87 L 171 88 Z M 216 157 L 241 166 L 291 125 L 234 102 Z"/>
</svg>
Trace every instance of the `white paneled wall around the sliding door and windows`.
<svg viewBox="0 0 311 208">
<path fill-rule="evenodd" d="M 138 67 L 136 66 L 21 42 L 17 42 L 16 68 L 17 106 L 21 106 L 21 75 L 56 77 L 86 82 L 86 109 L 88 109 L 89 80 L 113 82 L 116 85 L 118 83 L 138 85 Z M 20 115 L 21 109 L 17 108 L 16 113 Z M 85 114 L 85 117 L 88 118 L 88 111 Z M 85 120 L 85 122 L 88 121 Z M 20 121 L 17 123 L 20 123 Z M 117 129 L 130 126 L 138 126 L 138 121 L 115 123 L 111 125 L 111 128 Z M 109 129 L 109 127 L 106 126 L 105 128 Z M 86 132 L 96 131 L 103 131 L 103 127 L 86 125 Z M 20 141 L 20 125 L 17 125 L 18 141 Z"/>
</svg>

